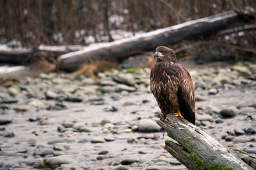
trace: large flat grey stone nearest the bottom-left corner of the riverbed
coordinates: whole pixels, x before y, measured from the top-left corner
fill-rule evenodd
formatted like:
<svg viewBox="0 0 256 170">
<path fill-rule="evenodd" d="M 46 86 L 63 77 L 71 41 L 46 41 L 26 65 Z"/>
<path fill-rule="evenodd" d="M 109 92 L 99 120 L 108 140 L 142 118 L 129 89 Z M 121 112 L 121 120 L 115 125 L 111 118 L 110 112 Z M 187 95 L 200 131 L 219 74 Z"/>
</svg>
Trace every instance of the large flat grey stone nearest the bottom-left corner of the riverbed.
<svg viewBox="0 0 256 170">
<path fill-rule="evenodd" d="M 70 164 L 72 162 L 75 162 L 75 160 L 73 157 L 70 157 L 70 155 L 60 155 L 44 159 L 45 166 L 51 168 L 56 168 L 61 166 L 61 164 Z"/>
</svg>

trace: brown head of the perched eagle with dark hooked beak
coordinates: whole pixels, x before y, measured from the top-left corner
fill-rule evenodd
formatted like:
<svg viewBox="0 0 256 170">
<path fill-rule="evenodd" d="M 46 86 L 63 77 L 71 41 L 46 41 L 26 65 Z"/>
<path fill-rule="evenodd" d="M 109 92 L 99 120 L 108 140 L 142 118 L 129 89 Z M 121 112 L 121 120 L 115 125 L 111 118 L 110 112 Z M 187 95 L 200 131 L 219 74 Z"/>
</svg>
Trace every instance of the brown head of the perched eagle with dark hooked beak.
<svg viewBox="0 0 256 170">
<path fill-rule="evenodd" d="M 157 46 L 154 58 L 156 62 L 177 62 L 174 50 L 166 46 Z"/>
</svg>

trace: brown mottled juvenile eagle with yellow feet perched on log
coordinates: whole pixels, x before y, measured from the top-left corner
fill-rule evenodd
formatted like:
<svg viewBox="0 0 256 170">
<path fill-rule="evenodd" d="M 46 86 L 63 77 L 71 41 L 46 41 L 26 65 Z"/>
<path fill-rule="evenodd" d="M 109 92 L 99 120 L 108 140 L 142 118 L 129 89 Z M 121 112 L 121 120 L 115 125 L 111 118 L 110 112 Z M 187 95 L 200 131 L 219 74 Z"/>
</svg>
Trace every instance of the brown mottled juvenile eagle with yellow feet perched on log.
<svg viewBox="0 0 256 170">
<path fill-rule="evenodd" d="M 161 120 L 175 114 L 195 124 L 195 89 L 190 74 L 177 62 L 174 51 L 166 46 L 157 46 L 154 58 L 150 90 L 163 114 Z"/>
</svg>

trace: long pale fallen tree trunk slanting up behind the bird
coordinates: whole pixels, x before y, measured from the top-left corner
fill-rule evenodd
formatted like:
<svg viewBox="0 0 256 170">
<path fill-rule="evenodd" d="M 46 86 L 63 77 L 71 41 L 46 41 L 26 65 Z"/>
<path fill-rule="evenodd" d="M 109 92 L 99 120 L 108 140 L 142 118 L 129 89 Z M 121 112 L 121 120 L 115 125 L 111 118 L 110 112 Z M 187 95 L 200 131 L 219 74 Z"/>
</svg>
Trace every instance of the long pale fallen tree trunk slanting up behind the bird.
<svg viewBox="0 0 256 170">
<path fill-rule="evenodd" d="M 170 45 L 183 39 L 196 39 L 216 34 L 227 27 L 234 27 L 237 22 L 244 20 L 244 18 L 246 15 L 227 11 L 131 38 L 88 46 L 77 52 L 60 55 L 57 68 L 70 72 L 79 69 L 84 62 L 102 59 L 122 60 L 134 54 L 154 50 L 159 45 Z"/>
</svg>

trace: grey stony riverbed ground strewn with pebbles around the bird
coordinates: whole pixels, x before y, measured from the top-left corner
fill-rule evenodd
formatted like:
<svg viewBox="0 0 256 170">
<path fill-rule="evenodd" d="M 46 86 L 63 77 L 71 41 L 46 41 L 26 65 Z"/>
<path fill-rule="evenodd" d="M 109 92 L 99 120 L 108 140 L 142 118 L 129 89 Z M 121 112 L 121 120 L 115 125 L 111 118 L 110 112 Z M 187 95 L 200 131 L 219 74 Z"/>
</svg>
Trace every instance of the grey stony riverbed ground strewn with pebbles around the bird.
<svg viewBox="0 0 256 170">
<path fill-rule="evenodd" d="M 196 125 L 256 155 L 256 64 L 190 67 Z M 42 73 L 0 87 L 0 169 L 186 169 L 163 149 L 150 69 Z M 19 83 L 16 83 L 20 81 Z"/>
</svg>

